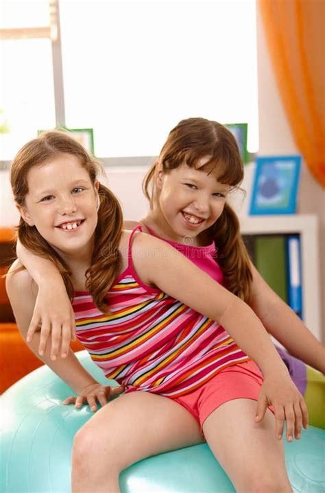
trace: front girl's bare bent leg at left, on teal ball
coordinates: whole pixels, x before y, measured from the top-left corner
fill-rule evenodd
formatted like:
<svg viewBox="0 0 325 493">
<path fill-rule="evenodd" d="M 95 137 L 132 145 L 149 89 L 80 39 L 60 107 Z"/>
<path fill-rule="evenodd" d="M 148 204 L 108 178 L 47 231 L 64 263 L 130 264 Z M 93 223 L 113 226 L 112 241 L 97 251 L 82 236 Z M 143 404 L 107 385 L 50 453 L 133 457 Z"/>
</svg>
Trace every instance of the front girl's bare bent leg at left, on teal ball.
<svg viewBox="0 0 325 493">
<path fill-rule="evenodd" d="M 73 493 L 118 493 L 119 473 L 158 453 L 204 442 L 189 411 L 173 400 L 134 392 L 101 408 L 75 435 Z"/>
</svg>

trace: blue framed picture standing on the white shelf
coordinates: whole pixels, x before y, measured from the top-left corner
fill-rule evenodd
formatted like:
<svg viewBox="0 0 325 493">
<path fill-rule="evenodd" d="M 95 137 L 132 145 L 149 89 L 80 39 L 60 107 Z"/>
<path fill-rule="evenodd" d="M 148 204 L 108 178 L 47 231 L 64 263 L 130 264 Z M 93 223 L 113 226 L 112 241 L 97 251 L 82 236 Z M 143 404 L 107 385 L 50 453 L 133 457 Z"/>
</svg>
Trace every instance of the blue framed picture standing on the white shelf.
<svg viewBox="0 0 325 493">
<path fill-rule="evenodd" d="M 294 214 L 301 156 L 260 156 L 250 204 L 251 215 Z"/>
</svg>

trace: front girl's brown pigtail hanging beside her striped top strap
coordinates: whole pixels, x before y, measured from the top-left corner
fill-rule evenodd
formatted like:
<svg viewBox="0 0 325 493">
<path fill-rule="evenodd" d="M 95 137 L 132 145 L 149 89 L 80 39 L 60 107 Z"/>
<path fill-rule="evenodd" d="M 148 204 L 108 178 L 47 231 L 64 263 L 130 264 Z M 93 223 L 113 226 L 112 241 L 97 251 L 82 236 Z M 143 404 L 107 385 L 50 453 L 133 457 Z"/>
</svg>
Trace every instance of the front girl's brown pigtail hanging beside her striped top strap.
<svg viewBox="0 0 325 493">
<path fill-rule="evenodd" d="M 123 229 L 123 215 L 117 197 L 99 184 L 100 206 L 95 231 L 95 246 L 91 267 L 86 271 L 86 289 L 93 296 L 97 308 L 110 313 L 106 296 L 119 275 L 121 254 L 119 243 Z"/>
</svg>

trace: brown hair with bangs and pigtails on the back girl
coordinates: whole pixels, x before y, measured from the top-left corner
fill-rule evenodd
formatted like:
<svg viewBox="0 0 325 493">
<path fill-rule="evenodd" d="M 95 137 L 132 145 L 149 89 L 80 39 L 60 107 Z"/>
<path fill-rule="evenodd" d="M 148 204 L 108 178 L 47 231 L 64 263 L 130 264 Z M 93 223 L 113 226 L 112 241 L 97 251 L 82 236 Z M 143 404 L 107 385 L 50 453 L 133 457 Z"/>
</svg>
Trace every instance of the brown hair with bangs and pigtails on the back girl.
<svg viewBox="0 0 325 493">
<path fill-rule="evenodd" d="M 143 180 L 143 193 L 149 200 L 150 209 L 158 203 L 158 171 L 168 173 L 183 163 L 198 169 L 201 158 L 206 156 L 210 159 L 200 166 L 200 171 L 216 173 L 219 182 L 230 185 L 230 189 L 239 188 L 243 180 L 243 163 L 230 130 L 217 121 L 189 118 L 171 130 L 158 160 Z M 227 202 L 219 219 L 208 229 L 208 235 L 218 250 L 217 261 L 227 289 L 249 302 L 252 294 L 250 258 L 241 239 L 239 219 Z"/>
</svg>

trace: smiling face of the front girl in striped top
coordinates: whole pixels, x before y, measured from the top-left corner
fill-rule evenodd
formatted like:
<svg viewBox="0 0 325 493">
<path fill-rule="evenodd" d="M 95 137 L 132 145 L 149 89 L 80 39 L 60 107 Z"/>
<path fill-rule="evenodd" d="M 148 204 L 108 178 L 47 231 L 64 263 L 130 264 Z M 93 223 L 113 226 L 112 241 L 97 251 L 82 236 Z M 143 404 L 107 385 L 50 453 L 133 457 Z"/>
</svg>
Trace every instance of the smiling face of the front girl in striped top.
<svg viewBox="0 0 325 493">
<path fill-rule="evenodd" d="M 88 256 L 97 225 L 98 182 L 72 154 L 60 154 L 33 167 L 27 175 L 29 192 L 19 211 L 29 226 L 63 257 Z"/>
</svg>

